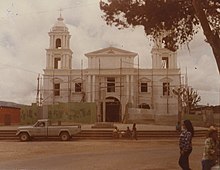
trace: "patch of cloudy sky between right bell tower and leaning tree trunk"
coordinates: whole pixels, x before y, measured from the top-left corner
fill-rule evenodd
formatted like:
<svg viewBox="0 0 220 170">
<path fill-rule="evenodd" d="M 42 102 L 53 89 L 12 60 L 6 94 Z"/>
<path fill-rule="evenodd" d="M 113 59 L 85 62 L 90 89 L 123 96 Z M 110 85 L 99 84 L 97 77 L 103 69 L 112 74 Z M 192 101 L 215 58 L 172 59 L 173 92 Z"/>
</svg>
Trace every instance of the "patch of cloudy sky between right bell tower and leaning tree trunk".
<svg viewBox="0 0 220 170">
<path fill-rule="evenodd" d="M 188 75 L 189 86 L 198 90 L 201 104 L 220 104 L 220 76 L 211 47 L 200 32 L 179 53 L 182 73 Z"/>
</svg>

